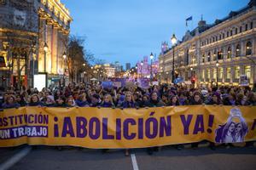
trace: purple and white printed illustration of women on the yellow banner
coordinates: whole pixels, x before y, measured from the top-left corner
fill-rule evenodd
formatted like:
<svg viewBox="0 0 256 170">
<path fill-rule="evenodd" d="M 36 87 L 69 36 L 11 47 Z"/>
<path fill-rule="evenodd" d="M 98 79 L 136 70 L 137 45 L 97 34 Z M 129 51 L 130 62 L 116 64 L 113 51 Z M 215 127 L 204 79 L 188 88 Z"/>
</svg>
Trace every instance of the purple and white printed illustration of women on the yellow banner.
<svg viewBox="0 0 256 170">
<path fill-rule="evenodd" d="M 217 143 L 244 142 L 248 133 L 247 122 L 243 118 L 240 109 L 230 110 L 230 116 L 226 123 L 218 125 L 215 131 L 215 141 Z"/>
</svg>

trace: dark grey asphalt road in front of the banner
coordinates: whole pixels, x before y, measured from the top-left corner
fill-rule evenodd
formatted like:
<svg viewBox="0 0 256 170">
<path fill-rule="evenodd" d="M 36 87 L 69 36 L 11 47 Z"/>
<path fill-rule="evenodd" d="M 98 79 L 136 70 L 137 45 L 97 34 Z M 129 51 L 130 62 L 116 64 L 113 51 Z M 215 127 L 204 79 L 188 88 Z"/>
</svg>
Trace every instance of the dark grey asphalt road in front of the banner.
<svg viewBox="0 0 256 170">
<path fill-rule="evenodd" d="M 0 149 L 0 167 L 5 161 L 24 150 L 26 146 L 15 149 Z M 133 150 L 134 158 L 124 156 L 124 150 L 110 150 L 102 154 L 101 150 L 65 148 L 56 150 L 54 147 L 40 146 L 32 149 L 25 157 L 9 169 L 256 169 L 256 148 L 219 147 L 217 150 L 199 148 L 198 150 L 175 150 L 172 147 L 162 148 L 153 156 L 145 150 Z M 133 167 L 132 163 L 136 163 Z"/>
</svg>

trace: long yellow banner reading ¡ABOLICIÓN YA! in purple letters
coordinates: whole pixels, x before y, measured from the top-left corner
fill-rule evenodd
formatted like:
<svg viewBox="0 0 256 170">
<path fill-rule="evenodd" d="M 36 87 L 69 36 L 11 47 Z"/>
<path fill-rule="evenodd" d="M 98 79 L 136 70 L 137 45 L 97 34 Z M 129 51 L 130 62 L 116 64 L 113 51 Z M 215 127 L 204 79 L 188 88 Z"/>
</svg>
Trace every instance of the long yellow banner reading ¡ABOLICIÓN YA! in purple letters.
<svg viewBox="0 0 256 170">
<path fill-rule="evenodd" d="M 20 144 L 143 148 L 256 139 L 256 106 L 149 109 L 22 107 L 0 112 L 0 147 Z"/>
</svg>

